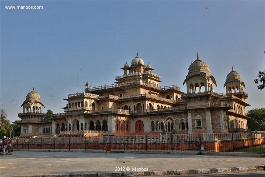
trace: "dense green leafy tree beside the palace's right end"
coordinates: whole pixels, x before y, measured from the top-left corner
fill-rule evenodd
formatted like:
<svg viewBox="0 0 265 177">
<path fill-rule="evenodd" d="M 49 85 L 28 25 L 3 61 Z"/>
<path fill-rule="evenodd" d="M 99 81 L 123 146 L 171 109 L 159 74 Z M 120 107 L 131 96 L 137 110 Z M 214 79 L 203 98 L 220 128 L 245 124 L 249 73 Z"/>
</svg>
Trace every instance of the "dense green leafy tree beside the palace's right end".
<svg viewBox="0 0 265 177">
<path fill-rule="evenodd" d="M 254 108 L 248 111 L 247 116 L 252 119 L 248 119 L 248 128 L 252 131 L 265 131 L 265 108 Z"/>
</svg>

